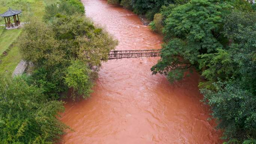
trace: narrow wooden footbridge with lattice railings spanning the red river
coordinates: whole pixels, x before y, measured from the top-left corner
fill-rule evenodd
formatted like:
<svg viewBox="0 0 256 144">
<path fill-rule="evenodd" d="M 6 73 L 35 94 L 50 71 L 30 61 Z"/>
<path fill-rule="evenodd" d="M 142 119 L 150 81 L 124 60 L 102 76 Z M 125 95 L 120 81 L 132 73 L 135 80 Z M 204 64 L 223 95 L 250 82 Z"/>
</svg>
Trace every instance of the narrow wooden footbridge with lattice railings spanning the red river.
<svg viewBox="0 0 256 144">
<path fill-rule="evenodd" d="M 108 59 L 140 58 L 160 56 L 161 49 L 150 50 L 115 50 L 110 51 Z"/>
</svg>

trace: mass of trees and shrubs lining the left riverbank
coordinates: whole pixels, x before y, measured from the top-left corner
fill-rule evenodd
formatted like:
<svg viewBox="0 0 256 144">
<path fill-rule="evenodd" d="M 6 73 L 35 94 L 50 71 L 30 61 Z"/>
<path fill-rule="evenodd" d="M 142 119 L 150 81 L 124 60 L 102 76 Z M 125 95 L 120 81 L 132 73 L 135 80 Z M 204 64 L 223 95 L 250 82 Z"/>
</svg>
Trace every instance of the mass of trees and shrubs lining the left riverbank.
<svg viewBox="0 0 256 144">
<path fill-rule="evenodd" d="M 118 42 L 84 13 L 79 0 L 60 0 L 46 5 L 40 18 L 27 19 L 16 46 L 33 62 L 33 72 L 0 76 L 1 144 L 54 143 L 68 128 L 58 120 L 64 110 L 60 99 L 69 88 L 74 100 L 92 92 L 97 68 Z"/>
</svg>

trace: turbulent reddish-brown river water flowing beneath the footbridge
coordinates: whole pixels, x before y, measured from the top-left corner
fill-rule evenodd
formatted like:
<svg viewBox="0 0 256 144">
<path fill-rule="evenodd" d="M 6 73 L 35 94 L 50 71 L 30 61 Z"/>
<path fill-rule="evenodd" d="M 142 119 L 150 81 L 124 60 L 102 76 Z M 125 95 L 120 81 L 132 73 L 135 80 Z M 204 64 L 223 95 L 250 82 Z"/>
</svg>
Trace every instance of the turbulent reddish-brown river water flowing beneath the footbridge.
<svg viewBox="0 0 256 144">
<path fill-rule="evenodd" d="M 106 0 L 82 0 L 86 16 L 119 40 L 117 50 L 160 49 L 162 37 L 137 15 Z M 200 99 L 198 74 L 169 83 L 152 75 L 159 58 L 104 62 L 91 98 L 67 101 L 61 144 L 219 144 Z"/>
</svg>

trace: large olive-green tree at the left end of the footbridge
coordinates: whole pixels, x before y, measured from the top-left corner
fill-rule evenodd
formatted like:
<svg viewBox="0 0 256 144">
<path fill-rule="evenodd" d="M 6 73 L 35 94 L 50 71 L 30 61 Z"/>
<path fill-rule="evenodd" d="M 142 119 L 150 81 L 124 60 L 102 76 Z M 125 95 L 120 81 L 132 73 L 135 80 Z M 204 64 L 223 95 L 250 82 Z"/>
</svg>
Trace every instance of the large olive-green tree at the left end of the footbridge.
<svg viewBox="0 0 256 144">
<path fill-rule="evenodd" d="M 34 64 L 32 79 L 53 99 L 70 86 L 65 77 L 71 61 L 79 59 L 97 71 L 116 45 L 109 34 L 79 14 L 56 15 L 48 24 L 31 21 L 20 37 L 22 56 Z"/>
</svg>

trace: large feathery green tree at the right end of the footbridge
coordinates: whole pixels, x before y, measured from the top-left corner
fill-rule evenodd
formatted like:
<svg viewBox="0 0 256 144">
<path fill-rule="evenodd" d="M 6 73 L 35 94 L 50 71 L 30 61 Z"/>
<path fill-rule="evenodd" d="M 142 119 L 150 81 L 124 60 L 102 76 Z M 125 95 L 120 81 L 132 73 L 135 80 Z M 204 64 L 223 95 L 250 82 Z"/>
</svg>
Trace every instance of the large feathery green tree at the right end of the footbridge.
<svg viewBox="0 0 256 144">
<path fill-rule="evenodd" d="M 224 6 L 218 2 L 191 0 L 172 10 L 165 21 L 161 59 L 151 69 L 154 74 L 165 74 L 171 81 L 181 79 L 184 71 L 198 65 L 198 55 L 222 48 L 218 39 Z"/>
</svg>

